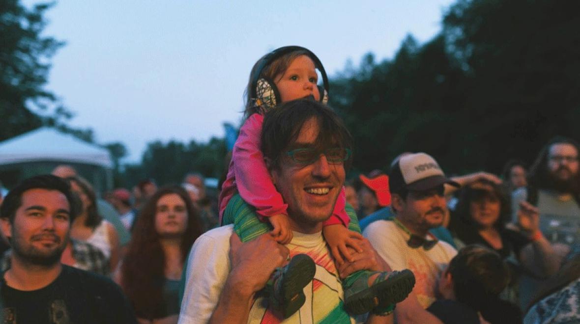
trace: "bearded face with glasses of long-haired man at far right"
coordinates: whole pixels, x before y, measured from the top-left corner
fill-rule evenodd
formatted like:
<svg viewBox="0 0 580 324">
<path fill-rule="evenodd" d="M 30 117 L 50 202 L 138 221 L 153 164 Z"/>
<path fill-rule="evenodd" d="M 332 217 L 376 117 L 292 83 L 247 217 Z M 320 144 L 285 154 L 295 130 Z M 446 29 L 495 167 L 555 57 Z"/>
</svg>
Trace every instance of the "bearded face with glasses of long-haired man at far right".
<svg viewBox="0 0 580 324">
<path fill-rule="evenodd" d="M 570 180 L 578 173 L 578 151 L 574 145 L 556 143 L 550 146 L 548 172 L 557 181 Z"/>
</svg>

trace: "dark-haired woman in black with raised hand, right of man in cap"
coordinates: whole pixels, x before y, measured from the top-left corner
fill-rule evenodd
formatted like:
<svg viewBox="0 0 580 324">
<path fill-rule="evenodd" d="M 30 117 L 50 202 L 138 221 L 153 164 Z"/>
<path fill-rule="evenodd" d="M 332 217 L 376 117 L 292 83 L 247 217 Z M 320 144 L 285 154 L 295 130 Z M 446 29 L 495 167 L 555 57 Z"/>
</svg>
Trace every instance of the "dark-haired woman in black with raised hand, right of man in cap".
<svg viewBox="0 0 580 324">
<path fill-rule="evenodd" d="M 501 185 L 487 180 L 463 188 L 449 224 L 456 245 L 458 248 L 469 244 L 489 247 L 504 260 L 513 261 L 513 270 L 544 278 L 554 274 L 560 260 L 539 230 L 538 210 L 523 202 L 518 212 L 518 227 L 506 227 L 511 218 L 508 197 Z M 513 283 L 512 294 L 504 297 L 516 301 Z"/>
</svg>

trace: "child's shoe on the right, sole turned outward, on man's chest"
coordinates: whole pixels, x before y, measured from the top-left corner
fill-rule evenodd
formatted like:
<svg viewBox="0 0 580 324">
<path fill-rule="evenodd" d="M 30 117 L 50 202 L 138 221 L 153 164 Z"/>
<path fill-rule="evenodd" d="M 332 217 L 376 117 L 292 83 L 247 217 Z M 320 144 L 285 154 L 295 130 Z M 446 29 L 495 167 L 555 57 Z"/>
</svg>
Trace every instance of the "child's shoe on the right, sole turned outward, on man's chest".
<svg viewBox="0 0 580 324">
<path fill-rule="evenodd" d="M 369 286 L 369 277 L 376 276 Z M 371 272 L 361 275 L 345 290 L 345 308 L 354 315 L 374 309 L 383 309 L 407 298 L 415 286 L 415 275 L 411 270 Z"/>
</svg>

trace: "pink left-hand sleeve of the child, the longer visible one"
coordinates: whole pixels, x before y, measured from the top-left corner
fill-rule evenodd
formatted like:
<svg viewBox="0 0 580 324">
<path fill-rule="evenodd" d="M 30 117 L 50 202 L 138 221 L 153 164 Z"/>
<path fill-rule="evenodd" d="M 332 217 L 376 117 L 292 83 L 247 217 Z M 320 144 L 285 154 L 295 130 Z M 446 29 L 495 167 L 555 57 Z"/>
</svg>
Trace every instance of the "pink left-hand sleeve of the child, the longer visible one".
<svg viewBox="0 0 580 324">
<path fill-rule="evenodd" d="M 274 187 L 260 150 L 263 122 L 262 115 L 253 114 L 240 128 L 231 156 L 235 185 L 242 199 L 254 206 L 260 216 L 288 214 L 288 205 Z"/>
</svg>

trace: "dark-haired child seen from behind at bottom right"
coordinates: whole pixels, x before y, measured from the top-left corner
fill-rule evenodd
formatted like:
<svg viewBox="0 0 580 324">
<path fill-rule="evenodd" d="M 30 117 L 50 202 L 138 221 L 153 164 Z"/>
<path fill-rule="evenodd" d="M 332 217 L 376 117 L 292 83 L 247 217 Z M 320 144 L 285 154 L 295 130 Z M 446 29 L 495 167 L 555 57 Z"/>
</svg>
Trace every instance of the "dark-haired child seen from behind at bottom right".
<svg viewBox="0 0 580 324">
<path fill-rule="evenodd" d="M 441 299 L 427 311 L 451 324 L 478 324 L 479 314 L 491 323 L 521 323 L 517 306 L 498 298 L 508 281 L 509 269 L 498 253 L 468 245 L 441 273 L 437 285 Z"/>
</svg>

